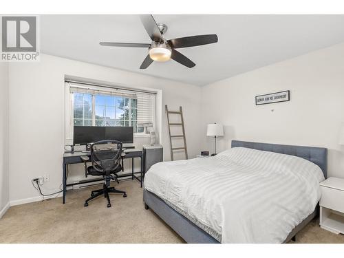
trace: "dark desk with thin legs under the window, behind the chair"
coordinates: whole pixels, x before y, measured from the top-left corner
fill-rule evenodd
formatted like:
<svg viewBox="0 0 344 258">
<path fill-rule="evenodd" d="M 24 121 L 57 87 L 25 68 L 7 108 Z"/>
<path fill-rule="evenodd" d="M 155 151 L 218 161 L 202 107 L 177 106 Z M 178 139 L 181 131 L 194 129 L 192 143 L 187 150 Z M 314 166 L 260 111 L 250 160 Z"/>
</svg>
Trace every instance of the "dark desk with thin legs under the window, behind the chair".
<svg viewBox="0 0 344 258">
<path fill-rule="evenodd" d="M 125 156 L 122 159 L 126 159 L 126 158 L 132 159 L 131 173 L 125 173 L 122 175 L 118 175 L 118 178 L 124 178 L 124 177 L 131 175 L 131 179 L 133 180 L 135 178 L 136 180 L 138 180 L 141 184 L 141 187 L 142 187 L 142 180 L 144 178 L 142 150 L 140 150 L 140 149 L 126 149 L 124 152 L 125 152 Z M 80 158 L 81 156 L 87 156 L 90 158 L 91 153 L 78 151 L 78 152 L 74 152 L 74 153 L 64 153 L 63 154 L 63 204 L 65 203 L 65 195 L 67 193 L 67 186 L 74 186 L 76 184 L 86 184 L 89 182 L 103 181 L 103 178 L 96 178 L 96 179 L 92 179 L 92 180 L 81 180 L 81 181 L 76 182 L 76 183 L 67 184 L 68 165 L 69 164 L 83 163 L 83 160 L 81 160 L 81 158 Z M 140 172 L 136 172 L 136 173 L 140 173 L 140 178 L 136 177 L 135 173 L 133 172 L 133 159 L 134 158 L 141 158 Z M 122 160 L 122 164 L 123 164 L 123 160 Z"/>
</svg>

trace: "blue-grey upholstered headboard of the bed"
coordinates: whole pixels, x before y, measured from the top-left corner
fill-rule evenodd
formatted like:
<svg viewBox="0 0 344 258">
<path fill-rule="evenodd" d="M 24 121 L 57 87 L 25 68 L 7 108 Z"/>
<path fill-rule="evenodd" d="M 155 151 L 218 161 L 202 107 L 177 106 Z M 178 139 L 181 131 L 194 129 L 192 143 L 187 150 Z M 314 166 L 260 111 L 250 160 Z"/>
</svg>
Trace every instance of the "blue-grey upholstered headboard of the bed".
<svg viewBox="0 0 344 258">
<path fill-rule="evenodd" d="M 304 158 L 320 166 L 325 178 L 327 178 L 327 149 L 319 147 L 293 146 L 282 144 L 270 144 L 261 142 L 242 142 L 241 140 L 232 140 L 233 147 L 245 147 L 258 149 L 260 151 L 272 151 L 282 154 L 288 154 Z"/>
</svg>

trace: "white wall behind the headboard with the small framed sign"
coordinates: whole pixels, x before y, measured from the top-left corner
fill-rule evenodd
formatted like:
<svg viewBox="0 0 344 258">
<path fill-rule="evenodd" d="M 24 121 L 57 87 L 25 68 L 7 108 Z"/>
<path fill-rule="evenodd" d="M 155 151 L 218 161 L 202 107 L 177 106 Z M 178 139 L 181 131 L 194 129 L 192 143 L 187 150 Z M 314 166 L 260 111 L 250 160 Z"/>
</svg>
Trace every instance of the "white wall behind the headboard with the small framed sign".
<svg viewBox="0 0 344 258">
<path fill-rule="evenodd" d="M 327 147 L 328 175 L 344 178 L 344 43 L 311 52 L 202 88 L 202 135 L 206 124 L 223 123 L 229 140 Z M 290 89 L 290 102 L 255 106 L 255 96 Z M 273 111 L 272 111 L 273 110 Z M 203 149 L 213 150 L 204 136 Z"/>
</svg>

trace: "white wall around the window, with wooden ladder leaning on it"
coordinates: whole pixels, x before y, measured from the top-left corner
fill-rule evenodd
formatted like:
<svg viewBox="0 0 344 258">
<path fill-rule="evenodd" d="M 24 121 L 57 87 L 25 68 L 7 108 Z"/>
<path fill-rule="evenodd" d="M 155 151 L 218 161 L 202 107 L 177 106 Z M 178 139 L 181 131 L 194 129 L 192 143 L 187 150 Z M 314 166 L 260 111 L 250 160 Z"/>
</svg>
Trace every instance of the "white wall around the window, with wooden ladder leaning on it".
<svg viewBox="0 0 344 258">
<path fill-rule="evenodd" d="M 39 200 L 32 178 L 48 173 L 46 188 L 61 184 L 65 75 L 162 89 L 164 159 L 170 157 L 164 105 L 184 109 L 189 158 L 200 150 L 200 87 L 45 54 L 39 63 L 10 63 L 9 74 L 11 204 Z M 83 174 L 82 168 L 79 173 Z"/>
</svg>

